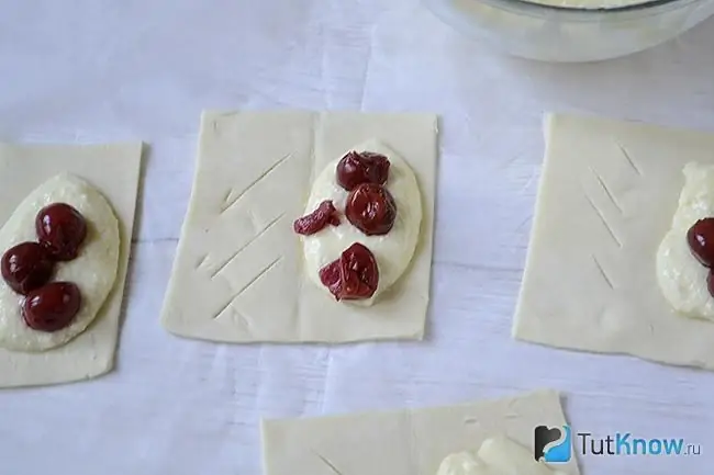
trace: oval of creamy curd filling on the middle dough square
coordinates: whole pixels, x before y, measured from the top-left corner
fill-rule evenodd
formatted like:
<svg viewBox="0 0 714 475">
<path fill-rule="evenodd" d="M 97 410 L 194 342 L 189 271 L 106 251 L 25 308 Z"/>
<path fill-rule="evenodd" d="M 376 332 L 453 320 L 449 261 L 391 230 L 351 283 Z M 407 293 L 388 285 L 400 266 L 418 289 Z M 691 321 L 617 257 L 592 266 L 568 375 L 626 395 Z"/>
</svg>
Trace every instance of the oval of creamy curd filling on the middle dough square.
<svg viewBox="0 0 714 475">
<path fill-rule="evenodd" d="M 383 236 L 367 236 L 345 217 L 345 202 L 348 192 L 336 180 L 336 167 L 342 157 L 330 162 L 312 185 L 305 214 L 317 208 L 320 203 L 332 200 L 339 212 L 339 226 L 326 226 L 311 236 L 302 236 L 305 269 L 310 279 L 330 293 L 320 281 L 320 269 L 338 259 L 342 252 L 355 242 L 366 246 L 377 260 L 379 284 L 369 299 L 345 301 L 356 305 L 371 305 L 377 296 L 387 291 L 409 267 L 419 241 L 422 223 L 422 197 L 414 172 L 406 161 L 386 145 L 369 140 L 355 147 L 357 151 L 373 151 L 384 155 L 390 161 L 387 190 L 397 204 L 397 219 L 392 229 Z"/>
</svg>

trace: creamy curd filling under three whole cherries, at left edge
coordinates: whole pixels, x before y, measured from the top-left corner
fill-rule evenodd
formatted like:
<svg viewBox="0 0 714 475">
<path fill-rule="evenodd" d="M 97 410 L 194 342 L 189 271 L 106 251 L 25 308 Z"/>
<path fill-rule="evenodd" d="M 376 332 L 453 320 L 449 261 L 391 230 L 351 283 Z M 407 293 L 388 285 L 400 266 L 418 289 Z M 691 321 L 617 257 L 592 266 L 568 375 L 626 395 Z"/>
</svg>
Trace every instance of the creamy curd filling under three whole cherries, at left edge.
<svg viewBox="0 0 714 475">
<path fill-rule="evenodd" d="M 0 279 L 0 347 L 14 351 L 44 351 L 70 341 L 97 317 L 116 280 L 119 224 L 104 196 L 86 181 L 68 173 L 51 178 L 18 206 L 0 228 L 0 252 L 20 242 L 36 240 L 35 217 L 48 204 L 66 203 L 87 220 L 87 237 L 76 259 L 55 264 L 51 282 L 68 281 L 81 293 L 81 306 L 72 323 L 54 332 L 33 330 L 25 324 L 24 297 Z"/>
</svg>

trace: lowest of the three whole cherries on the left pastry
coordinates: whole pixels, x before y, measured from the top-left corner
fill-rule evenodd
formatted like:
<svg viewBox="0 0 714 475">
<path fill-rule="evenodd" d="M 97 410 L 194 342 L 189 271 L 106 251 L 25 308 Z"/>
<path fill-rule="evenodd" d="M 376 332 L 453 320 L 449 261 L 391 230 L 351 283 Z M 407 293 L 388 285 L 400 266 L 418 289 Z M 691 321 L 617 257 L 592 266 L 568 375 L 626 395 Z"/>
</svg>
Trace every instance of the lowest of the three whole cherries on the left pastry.
<svg viewBox="0 0 714 475">
<path fill-rule="evenodd" d="M 53 282 L 27 294 L 22 316 L 27 326 L 40 331 L 57 331 L 75 319 L 81 305 L 79 287 L 71 282 Z"/>
</svg>

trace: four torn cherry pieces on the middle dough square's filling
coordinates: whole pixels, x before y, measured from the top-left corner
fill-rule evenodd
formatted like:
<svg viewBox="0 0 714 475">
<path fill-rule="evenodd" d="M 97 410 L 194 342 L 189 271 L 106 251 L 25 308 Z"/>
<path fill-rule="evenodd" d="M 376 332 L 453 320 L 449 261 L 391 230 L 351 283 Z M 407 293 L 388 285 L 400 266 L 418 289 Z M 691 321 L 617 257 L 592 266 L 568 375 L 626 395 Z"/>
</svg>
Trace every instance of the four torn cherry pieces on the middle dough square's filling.
<svg viewBox="0 0 714 475">
<path fill-rule="evenodd" d="M 349 151 L 337 163 L 337 184 L 348 191 L 345 217 L 367 236 L 388 234 L 397 219 L 394 197 L 384 183 L 389 178 L 389 159 L 371 151 Z M 311 214 L 298 218 L 295 233 L 315 234 L 326 226 L 339 226 L 339 213 L 325 200 Z M 339 259 L 320 270 L 320 281 L 337 301 L 370 298 L 377 291 L 379 270 L 375 255 L 355 242 Z"/>
</svg>

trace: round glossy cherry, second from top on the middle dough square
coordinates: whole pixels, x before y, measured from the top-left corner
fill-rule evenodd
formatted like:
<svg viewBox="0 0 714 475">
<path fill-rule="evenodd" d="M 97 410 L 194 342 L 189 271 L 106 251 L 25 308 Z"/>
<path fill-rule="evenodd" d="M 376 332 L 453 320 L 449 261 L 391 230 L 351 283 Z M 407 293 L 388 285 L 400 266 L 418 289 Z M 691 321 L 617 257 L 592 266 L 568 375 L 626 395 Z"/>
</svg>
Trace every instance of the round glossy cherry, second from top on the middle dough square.
<svg viewBox="0 0 714 475">
<path fill-rule="evenodd" d="M 345 215 L 367 236 L 386 235 L 397 219 L 397 203 L 381 184 L 362 183 L 349 192 Z"/>
</svg>

